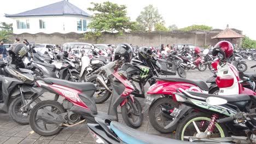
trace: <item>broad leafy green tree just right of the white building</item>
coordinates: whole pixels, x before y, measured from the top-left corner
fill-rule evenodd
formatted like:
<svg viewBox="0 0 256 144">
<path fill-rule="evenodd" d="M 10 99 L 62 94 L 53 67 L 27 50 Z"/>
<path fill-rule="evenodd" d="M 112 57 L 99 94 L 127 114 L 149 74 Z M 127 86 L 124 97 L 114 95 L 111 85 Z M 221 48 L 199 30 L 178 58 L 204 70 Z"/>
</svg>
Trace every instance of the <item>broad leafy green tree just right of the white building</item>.
<svg viewBox="0 0 256 144">
<path fill-rule="evenodd" d="M 94 32 L 85 33 L 85 38 L 100 38 L 101 32 L 118 32 L 123 34 L 126 30 L 133 30 L 135 22 L 131 22 L 127 17 L 125 5 L 118 5 L 111 2 L 91 3 L 93 8 L 88 10 L 94 11 L 92 21 L 88 28 L 94 29 Z"/>
</svg>

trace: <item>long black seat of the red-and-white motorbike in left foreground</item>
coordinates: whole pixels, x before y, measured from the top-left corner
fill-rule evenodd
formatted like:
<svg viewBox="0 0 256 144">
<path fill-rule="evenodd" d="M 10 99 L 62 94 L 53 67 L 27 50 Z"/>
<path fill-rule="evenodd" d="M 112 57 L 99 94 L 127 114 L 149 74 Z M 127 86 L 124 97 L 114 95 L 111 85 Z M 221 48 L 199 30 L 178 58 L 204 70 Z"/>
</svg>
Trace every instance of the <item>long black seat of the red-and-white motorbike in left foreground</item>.
<svg viewBox="0 0 256 144">
<path fill-rule="evenodd" d="M 94 83 L 91 83 L 91 82 L 71 82 L 71 81 L 61 80 L 61 79 L 56 79 L 51 77 L 44 78 L 44 80 L 57 85 L 74 88 L 79 91 L 92 91 L 92 90 L 95 91 L 96 90 L 96 86 L 94 85 Z"/>
</svg>

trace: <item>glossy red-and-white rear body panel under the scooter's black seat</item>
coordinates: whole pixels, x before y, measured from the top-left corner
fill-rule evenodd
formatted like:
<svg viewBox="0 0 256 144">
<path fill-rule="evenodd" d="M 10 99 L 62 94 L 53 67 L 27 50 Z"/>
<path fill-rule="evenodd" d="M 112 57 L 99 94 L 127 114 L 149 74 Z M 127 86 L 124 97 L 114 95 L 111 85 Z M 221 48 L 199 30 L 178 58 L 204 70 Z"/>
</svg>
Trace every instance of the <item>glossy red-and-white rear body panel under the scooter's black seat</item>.
<svg viewBox="0 0 256 144">
<path fill-rule="evenodd" d="M 199 87 L 187 82 L 174 81 L 156 81 L 156 83 L 149 87 L 148 94 L 167 94 L 173 95 L 177 88 L 182 88 L 185 91 L 203 92 Z"/>
</svg>

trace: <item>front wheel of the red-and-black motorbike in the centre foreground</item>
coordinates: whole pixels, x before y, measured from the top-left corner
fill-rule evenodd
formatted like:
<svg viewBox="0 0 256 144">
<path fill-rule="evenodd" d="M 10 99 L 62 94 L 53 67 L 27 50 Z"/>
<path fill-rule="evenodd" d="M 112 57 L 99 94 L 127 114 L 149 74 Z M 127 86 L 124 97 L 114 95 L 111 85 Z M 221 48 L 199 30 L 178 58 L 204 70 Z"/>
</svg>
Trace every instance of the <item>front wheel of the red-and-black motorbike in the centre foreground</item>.
<svg viewBox="0 0 256 144">
<path fill-rule="evenodd" d="M 130 98 L 121 106 L 121 113 L 124 122 L 131 128 L 136 129 L 143 122 L 142 106 L 139 101 L 133 97 L 134 103 Z"/>
</svg>

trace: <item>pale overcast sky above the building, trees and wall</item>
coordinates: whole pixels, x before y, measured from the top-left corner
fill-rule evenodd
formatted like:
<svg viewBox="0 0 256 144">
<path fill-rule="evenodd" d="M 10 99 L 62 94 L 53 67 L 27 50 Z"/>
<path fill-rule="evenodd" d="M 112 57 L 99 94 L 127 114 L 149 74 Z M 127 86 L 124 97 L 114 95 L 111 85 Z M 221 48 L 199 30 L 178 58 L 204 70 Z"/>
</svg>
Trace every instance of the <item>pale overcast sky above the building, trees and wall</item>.
<svg viewBox="0 0 256 144">
<path fill-rule="evenodd" d="M 60 0 L 7 0 L 0 8 L 0 21 L 11 22 L 4 17 L 6 14 L 21 13 L 26 10 L 42 7 Z M 175 24 L 178 28 L 190 25 L 207 25 L 213 28 L 224 29 L 227 24 L 230 28 L 243 31 L 251 39 L 256 40 L 256 1 L 254 0 L 109 0 L 113 3 L 125 4 L 128 16 L 136 20 L 139 13 L 149 4 L 157 7 L 164 17 L 165 25 Z M 87 8 L 91 2 L 104 0 L 69 0 L 72 4 L 92 14 Z"/>
</svg>

